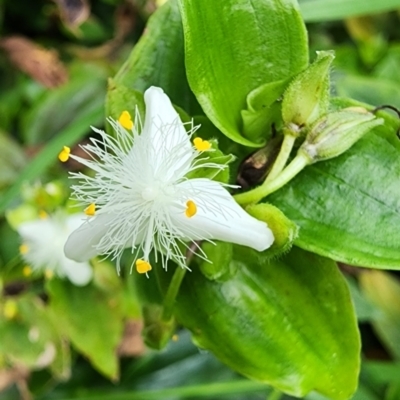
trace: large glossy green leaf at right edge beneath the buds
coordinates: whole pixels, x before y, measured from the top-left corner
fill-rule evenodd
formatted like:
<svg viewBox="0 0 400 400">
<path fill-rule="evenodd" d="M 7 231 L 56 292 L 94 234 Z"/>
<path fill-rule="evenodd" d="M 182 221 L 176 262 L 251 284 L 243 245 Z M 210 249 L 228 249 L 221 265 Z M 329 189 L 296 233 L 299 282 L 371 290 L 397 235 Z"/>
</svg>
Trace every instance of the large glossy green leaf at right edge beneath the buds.
<svg viewBox="0 0 400 400">
<path fill-rule="evenodd" d="M 297 246 L 356 266 L 400 269 L 400 141 L 397 121 L 385 115 L 385 125 L 346 153 L 305 168 L 268 197 L 300 227 Z"/>
</svg>

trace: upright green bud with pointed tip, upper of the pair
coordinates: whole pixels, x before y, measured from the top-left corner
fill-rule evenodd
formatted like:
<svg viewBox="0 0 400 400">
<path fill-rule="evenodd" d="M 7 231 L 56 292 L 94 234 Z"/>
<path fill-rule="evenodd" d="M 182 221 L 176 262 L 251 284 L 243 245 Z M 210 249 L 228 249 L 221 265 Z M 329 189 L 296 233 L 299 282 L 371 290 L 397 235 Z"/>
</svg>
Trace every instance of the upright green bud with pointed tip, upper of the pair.
<svg viewBox="0 0 400 400">
<path fill-rule="evenodd" d="M 314 63 L 286 89 L 282 101 L 282 118 L 286 125 L 302 127 L 328 111 L 329 68 L 334 57 L 333 52 L 318 52 Z"/>
</svg>

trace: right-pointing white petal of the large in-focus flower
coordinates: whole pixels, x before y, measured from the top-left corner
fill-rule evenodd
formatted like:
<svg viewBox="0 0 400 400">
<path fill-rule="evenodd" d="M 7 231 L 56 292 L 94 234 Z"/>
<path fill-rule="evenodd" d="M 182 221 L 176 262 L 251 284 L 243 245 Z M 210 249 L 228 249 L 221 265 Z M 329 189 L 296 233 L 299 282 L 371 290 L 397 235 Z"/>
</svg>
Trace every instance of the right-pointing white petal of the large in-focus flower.
<svg viewBox="0 0 400 400">
<path fill-rule="evenodd" d="M 197 206 L 188 218 L 184 210 L 174 212 L 171 219 L 190 240 L 217 239 L 263 251 L 274 242 L 274 235 L 265 222 L 250 216 L 218 182 L 191 179 L 179 184 L 187 200 Z"/>
</svg>

